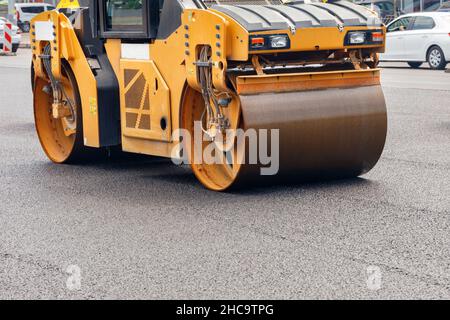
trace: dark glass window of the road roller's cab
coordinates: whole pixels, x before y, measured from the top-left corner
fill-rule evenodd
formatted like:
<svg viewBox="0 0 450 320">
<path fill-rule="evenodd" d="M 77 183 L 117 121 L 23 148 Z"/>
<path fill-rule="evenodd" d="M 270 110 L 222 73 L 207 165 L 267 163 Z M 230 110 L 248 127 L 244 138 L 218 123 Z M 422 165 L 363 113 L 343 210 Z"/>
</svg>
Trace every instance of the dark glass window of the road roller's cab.
<svg viewBox="0 0 450 320">
<path fill-rule="evenodd" d="M 108 31 L 144 31 L 142 0 L 106 1 Z"/>
</svg>

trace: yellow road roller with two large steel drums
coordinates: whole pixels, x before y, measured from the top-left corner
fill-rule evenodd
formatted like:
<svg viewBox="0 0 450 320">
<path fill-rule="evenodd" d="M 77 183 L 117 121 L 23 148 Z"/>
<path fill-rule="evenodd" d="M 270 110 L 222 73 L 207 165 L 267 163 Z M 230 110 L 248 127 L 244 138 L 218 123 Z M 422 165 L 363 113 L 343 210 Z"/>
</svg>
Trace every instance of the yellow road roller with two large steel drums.
<svg viewBox="0 0 450 320">
<path fill-rule="evenodd" d="M 385 144 L 385 34 L 344 0 L 63 1 L 31 22 L 39 140 L 55 163 L 186 161 L 217 191 L 356 177 Z"/>
</svg>

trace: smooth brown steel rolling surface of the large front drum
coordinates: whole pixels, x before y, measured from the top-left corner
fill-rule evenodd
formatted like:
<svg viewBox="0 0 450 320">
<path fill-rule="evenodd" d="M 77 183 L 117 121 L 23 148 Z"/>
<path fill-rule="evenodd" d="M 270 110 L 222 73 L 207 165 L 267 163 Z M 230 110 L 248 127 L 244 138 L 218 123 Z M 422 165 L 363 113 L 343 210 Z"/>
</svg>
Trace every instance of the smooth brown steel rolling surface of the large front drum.
<svg viewBox="0 0 450 320">
<path fill-rule="evenodd" d="M 356 177 L 371 170 L 383 151 L 387 116 L 380 85 L 240 100 L 244 129 L 279 129 L 277 179 Z M 258 178 L 260 167 L 245 165 L 239 179 Z"/>
</svg>

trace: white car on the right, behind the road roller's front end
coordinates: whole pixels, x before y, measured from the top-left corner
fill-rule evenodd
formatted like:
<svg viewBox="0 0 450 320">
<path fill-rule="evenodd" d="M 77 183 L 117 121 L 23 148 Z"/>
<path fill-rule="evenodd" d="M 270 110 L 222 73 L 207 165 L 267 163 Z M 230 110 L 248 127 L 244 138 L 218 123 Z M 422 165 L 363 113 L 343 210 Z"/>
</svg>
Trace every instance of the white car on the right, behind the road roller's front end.
<svg viewBox="0 0 450 320">
<path fill-rule="evenodd" d="M 421 12 L 403 15 L 386 27 L 386 52 L 381 61 L 405 61 L 412 68 L 428 62 L 445 69 L 450 62 L 450 13 Z"/>
</svg>

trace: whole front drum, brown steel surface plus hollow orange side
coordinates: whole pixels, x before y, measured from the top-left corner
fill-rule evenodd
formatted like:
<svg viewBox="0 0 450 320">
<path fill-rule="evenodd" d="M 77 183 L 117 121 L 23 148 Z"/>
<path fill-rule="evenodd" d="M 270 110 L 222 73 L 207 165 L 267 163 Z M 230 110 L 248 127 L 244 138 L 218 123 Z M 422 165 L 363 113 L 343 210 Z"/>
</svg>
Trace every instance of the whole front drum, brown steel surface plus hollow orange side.
<svg viewBox="0 0 450 320">
<path fill-rule="evenodd" d="M 267 129 L 269 136 L 271 130 L 279 130 L 279 170 L 275 175 L 261 175 L 261 169 L 267 166 L 249 164 L 250 148 L 242 145 L 235 146 L 230 156 L 224 155 L 223 163 L 192 163 L 190 159 L 196 177 L 209 189 L 221 191 L 255 181 L 356 177 L 372 169 L 383 151 L 387 116 L 379 83 L 243 93 L 238 100 L 226 111 L 232 119 L 239 119 L 231 121 L 231 129 Z M 204 110 L 201 94 L 189 89 L 183 110 L 182 125 L 194 135 L 192 123 L 201 119 Z M 243 149 L 245 159 L 236 161 L 236 150 Z M 275 155 L 270 156 L 273 161 Z"/>
</svg>

